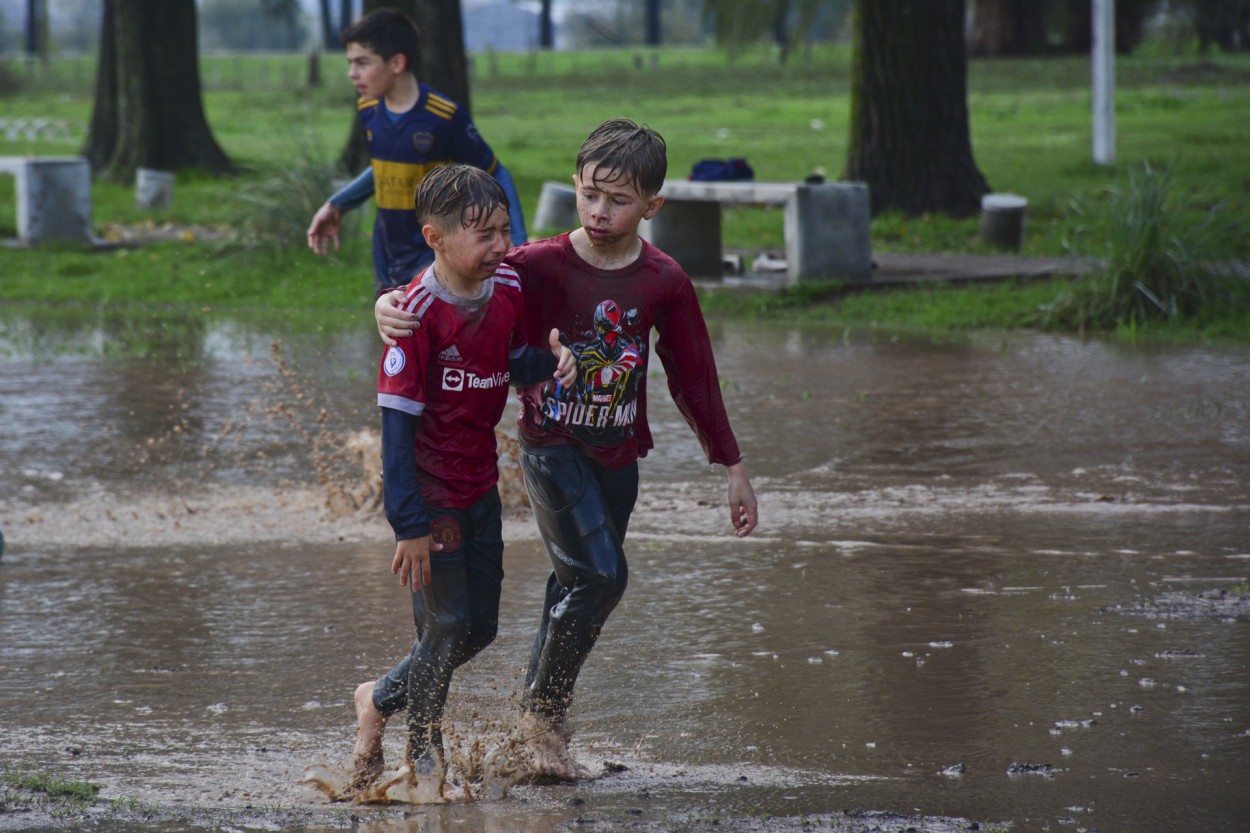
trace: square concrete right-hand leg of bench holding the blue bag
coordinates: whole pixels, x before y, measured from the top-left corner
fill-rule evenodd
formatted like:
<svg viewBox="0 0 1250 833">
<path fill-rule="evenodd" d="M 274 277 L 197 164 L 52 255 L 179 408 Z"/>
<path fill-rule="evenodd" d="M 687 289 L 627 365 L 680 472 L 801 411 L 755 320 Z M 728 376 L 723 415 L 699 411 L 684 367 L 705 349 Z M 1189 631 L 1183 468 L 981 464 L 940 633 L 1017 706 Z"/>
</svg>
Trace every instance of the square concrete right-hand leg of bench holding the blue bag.
<svg viewBox="0 0 1250 833">
<path fill-rule="evenodd" d="M 872 278 L 872 218 L 868 185 L 800 185 L 785 204 L 785 254 L 789 278 Z"/>
</svg>

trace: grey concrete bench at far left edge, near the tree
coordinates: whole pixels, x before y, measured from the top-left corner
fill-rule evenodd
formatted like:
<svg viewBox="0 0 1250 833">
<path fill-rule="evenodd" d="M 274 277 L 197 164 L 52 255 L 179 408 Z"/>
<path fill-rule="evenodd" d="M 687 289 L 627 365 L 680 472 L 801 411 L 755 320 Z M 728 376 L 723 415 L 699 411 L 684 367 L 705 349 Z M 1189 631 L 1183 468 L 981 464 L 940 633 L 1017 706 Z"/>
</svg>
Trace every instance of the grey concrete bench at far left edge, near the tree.
<svg viewBox="0 0 1250 833">
<path fill-rule="evenodd" d="M 91 164 L 75 156 L 0 156 L 16 179 L 18 243 L 95 243 Z"/>
</svg>

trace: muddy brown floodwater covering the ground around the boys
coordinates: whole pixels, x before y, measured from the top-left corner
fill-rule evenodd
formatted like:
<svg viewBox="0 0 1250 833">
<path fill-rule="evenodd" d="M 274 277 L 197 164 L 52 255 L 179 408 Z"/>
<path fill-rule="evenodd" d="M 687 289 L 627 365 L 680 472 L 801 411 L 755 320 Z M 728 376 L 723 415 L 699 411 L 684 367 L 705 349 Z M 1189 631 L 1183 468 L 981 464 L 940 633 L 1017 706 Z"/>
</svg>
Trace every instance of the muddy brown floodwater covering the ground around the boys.
<svg viewBox="0 0 1250 833">
<path fill-rule="evenodd" d="M 631 583 L 572 715 L 601 777 L 354 808 L 299 780 L 411 635 L 362 472 L 368 324 L 274 354 L 234 321 L 34 320 L 0 314 L 0 749 L 101 793 L 64 822 L 0 785 L 0 829 L 1250 819 L 1250 350 L 714 325 L 762 519 L 732 538 L 652 369 Z M 461 750 L 505 732 L 539 618 L 524 509 L 506 532 Z"/>
</svg>

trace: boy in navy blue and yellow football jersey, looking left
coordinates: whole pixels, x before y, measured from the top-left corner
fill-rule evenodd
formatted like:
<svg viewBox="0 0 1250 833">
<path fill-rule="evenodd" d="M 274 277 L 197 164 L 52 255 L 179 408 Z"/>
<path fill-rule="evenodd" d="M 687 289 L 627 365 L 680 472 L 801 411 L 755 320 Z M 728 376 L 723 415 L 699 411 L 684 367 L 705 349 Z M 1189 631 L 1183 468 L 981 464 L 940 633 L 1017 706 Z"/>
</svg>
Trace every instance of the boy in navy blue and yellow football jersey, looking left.
<svg viewBox="0 0 1250 833">
<path fill-rule="evenodd" d="M 481 168 L 504 188 L 510 203 L 512 241 L 525 241 L 525 218 L 508 169 L 495 158 L 469 114 L 436 90 L 418 81 L 416 24 L 395 9 L 378 9 L 342 33 L 348 46 L 348 78 L 360 94 L 360 126 L 370 166 L 335 193 L 312 216 L 309 248 L 325 254 L 339 248 L 344 211 L 372 194 L 374 289 L 409 283 L 434 261 L 412 213 L 416 186 L 431 170 L 449 163 Z"/>
</svg>

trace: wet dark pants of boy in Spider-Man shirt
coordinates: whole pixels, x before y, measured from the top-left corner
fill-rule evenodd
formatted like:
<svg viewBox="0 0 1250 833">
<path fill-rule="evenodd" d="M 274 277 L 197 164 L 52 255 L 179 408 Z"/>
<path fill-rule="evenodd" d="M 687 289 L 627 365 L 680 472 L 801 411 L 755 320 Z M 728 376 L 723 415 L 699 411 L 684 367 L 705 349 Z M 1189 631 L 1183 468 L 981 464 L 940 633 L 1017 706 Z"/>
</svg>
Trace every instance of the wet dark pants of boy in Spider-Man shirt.
<svg viewBox="0 0 1250 833">
<path fill-rule="evenodd" d="M 522 445 L 520 458 L 552 568 L 524 699 L 528 709 L 559 722 L 582 663 L 625 593 L 622 544 L 638 500 L 638 464 L 609 469 L 568 445 Z"/>
</svg>

